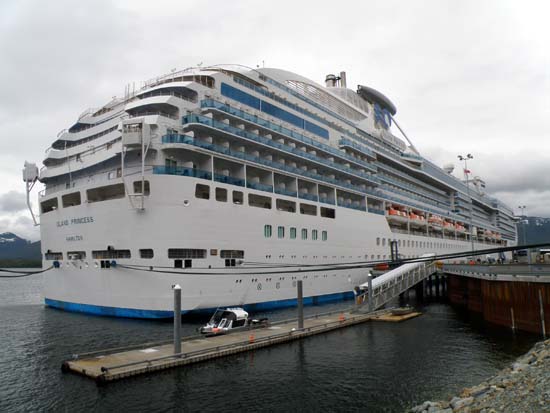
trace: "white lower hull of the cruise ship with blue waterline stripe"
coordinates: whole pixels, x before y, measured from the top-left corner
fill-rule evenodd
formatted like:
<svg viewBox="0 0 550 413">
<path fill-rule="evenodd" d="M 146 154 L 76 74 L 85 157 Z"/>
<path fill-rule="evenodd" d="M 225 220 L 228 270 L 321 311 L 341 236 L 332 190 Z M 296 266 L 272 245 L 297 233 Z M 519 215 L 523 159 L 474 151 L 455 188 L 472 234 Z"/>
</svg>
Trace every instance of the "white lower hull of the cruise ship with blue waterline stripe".
<svg viewBox="0 0 550 413">
<path fill-rule="evenodd" d="M 91 258 L 61 261 L 60 268 L 45 274 L 46 304 L 102 315 L 170 317 L 171 287 L 179 284 L 184 312 L 235 305 L 265 309 L 293 305 L 297 279 L 303 280 L 306 303 L 349 298 L 355 286 L 366 282 L 368 269 L 331 271 L 326 269 L 327 264 L 339 266 L 389 259 L 389 245 L 376 245 L 376 238 L 398 238 L 403 245 L 407 245 L 407 241 L 413 244 L 419 240 L 422 243 L 443 241 L 392 233 L 386 218 L 378 214 L 347 208 L 337 208 L 338 219 L 289 214 L 196 199 L 195 185 L 208 184 L 201 179 L 152 176 L 148 180 L 154 190 L 145 199 L 143 211 L 133 209 L 128 199 L 119 199 L 52 211 L 43 217 L 43 243 L 51 250 L 133 246 L 132 257 L 138 256 L 140 248 L 152 248 L 159 255 L 152 259 L 109 260 L 116 262 L 114 268 L 101 268 L 100 260 Z M 258 193 L 218 182 L 211 186 L 239 190 L 245 195 Z M 271 224 L 274 229 L 284 227 L 285 239 L 278 239 L 277 234 L 266 239 L 265 224 Z M 319 233 L 327 231 L 328 239 L 289 240 L 290 227 L 298 231 L 307 228 L 310 234 L 312 229 Z M 445 246 L 433 248 L 434 252 L 471 248 L 468 242 L 446 241 Z M 193 260 L 192 268 L 175 269 L 173 260 L 166 254 L 160 256 L 161 251 L 173 247 L 209 252 L 212 249 L 244 250 L 245 262 L 264 264 L 225 267 L 223 259 L 209 255 L 206 259 Z M 426 247 L 400 249 L 404 256 L 417 256 L 425 251 Z M 155 271 L 149 271 L 149 266 Z"/>
</svg>

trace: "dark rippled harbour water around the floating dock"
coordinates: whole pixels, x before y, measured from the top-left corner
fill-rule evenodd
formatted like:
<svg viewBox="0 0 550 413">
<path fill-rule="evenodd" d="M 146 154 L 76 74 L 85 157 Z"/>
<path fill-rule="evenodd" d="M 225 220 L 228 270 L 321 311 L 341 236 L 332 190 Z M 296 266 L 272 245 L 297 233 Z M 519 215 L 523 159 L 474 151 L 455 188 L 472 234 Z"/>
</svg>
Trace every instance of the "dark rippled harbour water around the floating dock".
<svg viewBox="0 0 550 413">
<path fill-rule="evenodd" d="M 484 380 L 538 339 L 436 302 L 404 323 L 366 323 L 97 387 L 63 374 L 61 363 L 73 353 L 170 339 L 172 323 L 46 308 L 41 289 L 42 275 L 0 279 L 1 412 L 403 412 Z M 306 314 L 349 305 L 306 307 Z M 284 319 L 295 311 L 263 314 Z M 187 320 L 184 334 L 203 321 Z"/>
</svg>

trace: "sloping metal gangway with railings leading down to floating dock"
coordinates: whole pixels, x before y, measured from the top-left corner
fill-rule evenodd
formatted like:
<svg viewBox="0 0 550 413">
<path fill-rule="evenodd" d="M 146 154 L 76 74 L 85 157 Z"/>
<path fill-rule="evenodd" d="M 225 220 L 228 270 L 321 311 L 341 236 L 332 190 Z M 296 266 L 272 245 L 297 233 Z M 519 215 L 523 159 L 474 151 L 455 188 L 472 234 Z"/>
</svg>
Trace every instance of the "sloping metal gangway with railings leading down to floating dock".
<svg viewBox="0 0 550 413">
<path fill-rule="evenodd" d="M 434 274 L 435 263 L 427 260 L 434 256 L 433 253 L 423 254 L 420 256 L 422 261 L 400 265 L 374 279 L 369 275 L 369 281 L 359 286 L 356 311 L 375 311 Z"/>
</svg>

